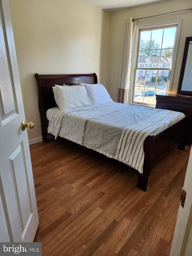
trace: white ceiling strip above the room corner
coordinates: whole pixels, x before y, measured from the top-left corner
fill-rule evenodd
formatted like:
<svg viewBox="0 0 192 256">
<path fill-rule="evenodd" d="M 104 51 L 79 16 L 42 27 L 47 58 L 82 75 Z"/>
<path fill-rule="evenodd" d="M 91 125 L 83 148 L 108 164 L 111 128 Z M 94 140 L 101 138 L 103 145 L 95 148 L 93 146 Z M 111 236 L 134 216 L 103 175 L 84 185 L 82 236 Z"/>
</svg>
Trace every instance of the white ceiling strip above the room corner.
<svg viewBox="0 0 192 256">
<path fill-rule="evenodd" d="M 165 0 L 82 0 L 90 5 L 94 5 L 107 11 L 117 11 L 128 7 L 146 5 Z"/>
</svg>

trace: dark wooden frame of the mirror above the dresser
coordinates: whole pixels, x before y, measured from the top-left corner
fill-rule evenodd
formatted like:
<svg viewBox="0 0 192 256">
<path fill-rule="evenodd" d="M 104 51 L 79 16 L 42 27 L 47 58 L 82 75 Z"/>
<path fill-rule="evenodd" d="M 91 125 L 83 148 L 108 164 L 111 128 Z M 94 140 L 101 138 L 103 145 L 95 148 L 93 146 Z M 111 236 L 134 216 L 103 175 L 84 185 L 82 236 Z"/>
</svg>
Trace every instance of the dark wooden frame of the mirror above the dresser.
<svg viewBox="0 0 192 256">
<path fill-rule="evenodd" d="M 183 77 L 184 77 L 184 71 L 185 71 L 185 65 L 187 61 L 187 53 L 188 53 L 188 48 L 189 48 L 189 42 L 192 41 L 192 37 L 186 37 L 185 40 L 185 47 L 184 47 L 184 53 L 183 53 L 183 60 L 182 60 L 182 65 L 181 65 L 181 73 L 179 77 L 179 84 L 178 84 L 178 89 L 177 89 L 177 94 L 182 94 L 182 95 L 192 95 L 192 91 L 182 91 L 182 83 L 183 83 Z"/>
</svg>

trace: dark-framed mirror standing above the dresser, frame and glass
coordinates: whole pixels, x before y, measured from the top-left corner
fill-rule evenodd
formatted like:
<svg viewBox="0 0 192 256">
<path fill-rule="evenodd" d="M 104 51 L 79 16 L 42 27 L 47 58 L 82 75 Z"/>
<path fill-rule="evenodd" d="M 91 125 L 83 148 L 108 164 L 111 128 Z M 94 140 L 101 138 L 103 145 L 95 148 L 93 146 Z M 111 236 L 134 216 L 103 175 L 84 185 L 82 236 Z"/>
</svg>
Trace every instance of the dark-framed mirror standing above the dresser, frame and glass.
<svg viewBox="0 0 192 256">
<path fill-rule="evenodd" d="M 192 95 L 192 37 L 186 37 L 178 94 Z"/>
</svg>

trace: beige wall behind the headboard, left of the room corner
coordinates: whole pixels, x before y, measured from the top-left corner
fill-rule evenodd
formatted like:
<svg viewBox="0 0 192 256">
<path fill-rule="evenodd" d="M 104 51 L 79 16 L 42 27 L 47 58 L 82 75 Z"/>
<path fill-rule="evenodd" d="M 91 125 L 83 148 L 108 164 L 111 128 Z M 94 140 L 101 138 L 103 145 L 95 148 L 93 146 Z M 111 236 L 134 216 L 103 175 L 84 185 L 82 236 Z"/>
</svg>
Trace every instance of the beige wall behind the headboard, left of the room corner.
<svg viewBox="0 0 192 256">
<path fill-rule="evenodd" d="M 41 137 L 38 74 L 90 74 L 108 86 L 110 14 L 79 0 L 9 0 L 29 140 Z"/>
</svg>

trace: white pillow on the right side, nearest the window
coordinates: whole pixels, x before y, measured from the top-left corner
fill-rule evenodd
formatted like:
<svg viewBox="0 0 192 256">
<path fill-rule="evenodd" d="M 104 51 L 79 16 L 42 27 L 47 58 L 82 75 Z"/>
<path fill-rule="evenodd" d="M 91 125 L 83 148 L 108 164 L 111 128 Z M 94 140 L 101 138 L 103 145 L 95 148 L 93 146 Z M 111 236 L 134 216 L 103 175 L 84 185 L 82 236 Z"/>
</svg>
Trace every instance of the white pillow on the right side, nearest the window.
<svg viewBox="0 0 192 256">
<path fill-rule="evenodd" d="M 107 92 L 106 88 L 102 84 L 82 83 L 79 85 L 85 86 L 88 97 L 93 105 L 113 101 L 112 98 L 110 98 L 110 95 Z"/>
</svg>

